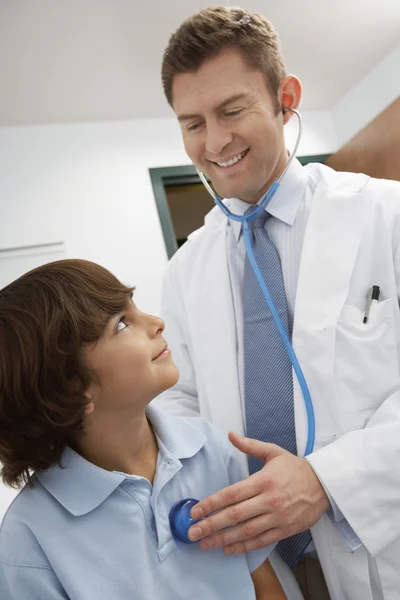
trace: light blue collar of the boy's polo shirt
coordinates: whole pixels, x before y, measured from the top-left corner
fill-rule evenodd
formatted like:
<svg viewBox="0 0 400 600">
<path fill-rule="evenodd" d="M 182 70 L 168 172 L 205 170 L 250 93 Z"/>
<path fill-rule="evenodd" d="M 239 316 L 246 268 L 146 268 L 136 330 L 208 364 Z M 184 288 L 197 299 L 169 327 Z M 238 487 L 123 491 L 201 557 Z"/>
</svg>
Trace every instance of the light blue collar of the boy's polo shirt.
<svg viewBox="0 0 400 600">
<path fill-rule="evenodd" d="M 175 417 L 149 405 L 146 411 L 156 434 L 160 454 L 173 458 L 194 456 L 205 444 L 205 435 L 189 419 Z M 37 473 L 37 479 L 64 508 L 74 516 L 84 515 L 102 504 L 127 478 L 116 471 L 106 471 L 67 447 L 60 465 Z"/>
</svg>

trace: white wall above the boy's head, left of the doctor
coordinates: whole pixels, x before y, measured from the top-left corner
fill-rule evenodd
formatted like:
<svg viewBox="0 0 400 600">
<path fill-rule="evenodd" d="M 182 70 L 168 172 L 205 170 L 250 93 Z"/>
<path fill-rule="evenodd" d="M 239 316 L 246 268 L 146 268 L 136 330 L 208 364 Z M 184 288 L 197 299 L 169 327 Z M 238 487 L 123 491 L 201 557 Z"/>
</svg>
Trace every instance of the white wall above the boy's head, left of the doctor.
<svg viewBox="0 0 400 600">
<path fill-rule="evenodd" d="M 166 254 L 148 167 L 183 162 L 172 120 L 0 129 L 0 248 L 64 241 L 156 310 Z"/>
</svg>

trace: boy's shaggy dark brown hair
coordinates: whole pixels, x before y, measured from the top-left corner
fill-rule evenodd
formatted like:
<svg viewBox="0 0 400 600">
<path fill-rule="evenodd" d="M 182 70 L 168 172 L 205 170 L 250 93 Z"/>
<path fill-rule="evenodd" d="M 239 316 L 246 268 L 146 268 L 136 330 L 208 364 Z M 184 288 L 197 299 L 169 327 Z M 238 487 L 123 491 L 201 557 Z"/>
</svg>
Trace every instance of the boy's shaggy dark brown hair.
<svg viewBox="0 0 400 600">
<path fill-rule="evenodd" d="M 0 473 L 6 485 L 30 483 L 82 435 L 84 393 L 95 381 L 82 350 L 126 309 L 132 293 L 85 260 L 49 263 L 0 290 Z"/>
</svg>

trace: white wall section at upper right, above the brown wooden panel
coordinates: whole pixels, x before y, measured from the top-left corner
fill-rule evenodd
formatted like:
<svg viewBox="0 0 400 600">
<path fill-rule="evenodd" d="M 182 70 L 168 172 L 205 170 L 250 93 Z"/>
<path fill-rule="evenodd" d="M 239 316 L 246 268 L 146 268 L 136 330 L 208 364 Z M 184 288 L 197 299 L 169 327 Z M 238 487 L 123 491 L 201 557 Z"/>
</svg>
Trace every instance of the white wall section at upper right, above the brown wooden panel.
<svg viewBox="0 0 400 600">
<path fill-rule="evenodd" d="M 373 43 L 373 42 L 372 42 Z M 370 71 L 332 111 L 340 146 L 400 96 L 400 46 Z"/>
</svg>

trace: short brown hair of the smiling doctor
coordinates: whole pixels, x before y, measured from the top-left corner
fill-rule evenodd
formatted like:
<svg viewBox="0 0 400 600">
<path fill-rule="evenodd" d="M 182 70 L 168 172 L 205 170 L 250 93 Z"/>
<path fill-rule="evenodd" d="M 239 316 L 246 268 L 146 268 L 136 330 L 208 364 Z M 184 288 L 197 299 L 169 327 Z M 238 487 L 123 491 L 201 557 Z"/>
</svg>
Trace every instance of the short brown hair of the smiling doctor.
<svg viewBox="0 0 400 600">
<path fill-rule="evenodd" d="M 286 75 L 279 37 L 262 15 L 243 8 L 205 8 L 186 19 L 172 34 L 164 52 L 161 79 L 165 97 L 173 106 L 175 75 L 196 72 L 225 49 L 237 49 L 250 68 L 261 71 L 277 99 Z"/>
</svg>

